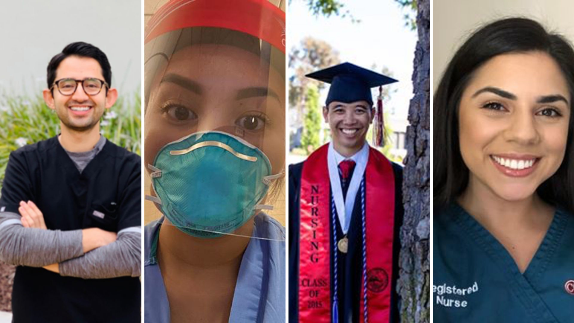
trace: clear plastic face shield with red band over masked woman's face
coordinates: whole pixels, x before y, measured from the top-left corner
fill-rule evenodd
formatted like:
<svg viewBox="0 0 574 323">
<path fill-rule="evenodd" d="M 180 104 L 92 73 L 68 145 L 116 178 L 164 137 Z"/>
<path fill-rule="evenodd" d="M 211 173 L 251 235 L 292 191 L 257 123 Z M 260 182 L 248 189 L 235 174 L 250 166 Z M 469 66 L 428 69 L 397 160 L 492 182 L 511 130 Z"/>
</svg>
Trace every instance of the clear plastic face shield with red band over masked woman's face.
<svg viewBox="0 0 574 323">
<path fill-rule="evenodd" d="M 285 223 L 272 210 L 285 201 L 284 12 L 267 0 L 172 1 L 147 32 L 146 199 L 192 236 L 284 241 L 263 216 Z"/>
</svg>

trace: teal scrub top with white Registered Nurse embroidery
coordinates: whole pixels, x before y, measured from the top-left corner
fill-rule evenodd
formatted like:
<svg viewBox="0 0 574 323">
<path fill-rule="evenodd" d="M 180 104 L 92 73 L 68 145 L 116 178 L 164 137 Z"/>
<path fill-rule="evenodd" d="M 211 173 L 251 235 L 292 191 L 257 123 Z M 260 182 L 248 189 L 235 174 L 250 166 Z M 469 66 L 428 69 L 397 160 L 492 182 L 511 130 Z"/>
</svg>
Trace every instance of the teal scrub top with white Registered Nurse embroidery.
<svg viewBox="0 0 574 323">
<path fill-rule="evenodd" d="M 433 321 L 574 322 L 574 217 L 557 209 L 524 273 L 459 205 L 435 217 Z"/>
</svg>

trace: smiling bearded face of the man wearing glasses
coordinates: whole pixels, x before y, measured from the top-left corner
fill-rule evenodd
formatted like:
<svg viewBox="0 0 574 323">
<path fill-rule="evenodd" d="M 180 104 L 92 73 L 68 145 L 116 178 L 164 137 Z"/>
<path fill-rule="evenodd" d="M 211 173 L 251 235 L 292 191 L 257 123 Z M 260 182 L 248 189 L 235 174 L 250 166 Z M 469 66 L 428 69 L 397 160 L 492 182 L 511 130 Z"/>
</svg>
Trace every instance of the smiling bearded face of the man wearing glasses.
<svg viewBox="0 0 574 323">
<path fill-rule="evenodd" d="M 87 78 L 104 79 L 102 67 L 97 60 L 91 57 L 69 56 L 61 61 L 56 70 L 56 80 L 60 79 L 83 80 Z M 53 88 L 44 90 L 46 104 L 56 111 L 62 131 L 74 130 L 85 132 L 94 130 L 99 133 L 99 121 L 104 110 L 114 105 L 117 99 L 117 90 L 102 89 L 96 95 L 84 92 L 82 84 L 77 83 L 76 91 L 69 96 L 62 95 Z"/>
</svg>

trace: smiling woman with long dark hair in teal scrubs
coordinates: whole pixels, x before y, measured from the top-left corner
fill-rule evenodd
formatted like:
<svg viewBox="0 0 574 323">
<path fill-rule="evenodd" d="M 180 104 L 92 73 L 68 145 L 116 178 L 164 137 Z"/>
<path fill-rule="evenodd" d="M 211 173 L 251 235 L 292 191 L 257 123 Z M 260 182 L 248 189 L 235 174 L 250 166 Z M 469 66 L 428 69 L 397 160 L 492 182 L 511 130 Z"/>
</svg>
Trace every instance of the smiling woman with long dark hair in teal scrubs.
<svg viewBox="0 0 574 323">
<path fill-rule="evenodd" d="M 574 51 L 538 22 L 478 29 L 433 101 L 433 318 L 569 322 Z"/>
</svg>

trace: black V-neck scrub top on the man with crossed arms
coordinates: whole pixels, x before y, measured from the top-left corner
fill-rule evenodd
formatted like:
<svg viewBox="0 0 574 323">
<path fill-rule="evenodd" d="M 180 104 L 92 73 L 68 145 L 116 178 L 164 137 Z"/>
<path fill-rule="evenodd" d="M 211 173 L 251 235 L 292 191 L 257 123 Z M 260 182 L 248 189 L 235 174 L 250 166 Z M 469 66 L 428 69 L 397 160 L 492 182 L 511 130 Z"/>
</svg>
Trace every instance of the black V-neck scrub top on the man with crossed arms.
<svg viewBox="0 0 574 323">
<path fill-rule="evenodd" d="M 57 137 L 22 147 L 10 153 L 0 210 L 19 213 L 20 201 L 29 200 L 51 230 L 141 226 L 141 157 L 106 141 L 80 174 Z M 140 309 L 137 277 L 82 279 L 16 268 L 15 323 L 139 322 Z"/>
</svg>

